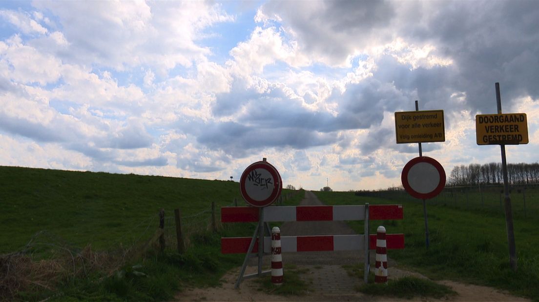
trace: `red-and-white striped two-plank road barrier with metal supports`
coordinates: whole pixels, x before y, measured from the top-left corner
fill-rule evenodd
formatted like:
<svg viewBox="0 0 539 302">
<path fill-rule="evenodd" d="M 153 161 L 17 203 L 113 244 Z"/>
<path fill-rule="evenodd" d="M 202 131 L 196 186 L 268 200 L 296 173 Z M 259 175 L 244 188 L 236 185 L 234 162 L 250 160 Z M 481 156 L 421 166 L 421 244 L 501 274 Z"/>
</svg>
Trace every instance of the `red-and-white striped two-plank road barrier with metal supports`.
<svg viewBox="0 0 539 302">
<path fill-rule="evenodd" d="M 259 222 L 252 237 L 221 238 L 221 253 L 239 254 L 247 253 L 236 288 L 240 282 L 257 274 L 243 276 L 247 258 L 260 255 L 271 255 L 271 233 L 267 222 L 285 221 L 343 221 L 364 220 L 363 235 L 315 235 L 315 236 L 280 236 L 281 252 L 300 251 L 338 251 L 363 250 L 364 251 L 364 282 L 368 283 L 370 270 L 370 250 L 376 249 L 377 235 L 370 234 L 369 222 L 371 220 L 403 219 L 402 205 L 343 205 L 343 206 L 279 206 L 279 207 L 222 207 L 222 222 Z M 262 219 L 262 221 L 260 221 Z M 263 225 L 263 226 L 262 226 Z M 268 236 L 259 235 L 259 228 L 264 228 Z M 262 232 L 264 233 L 264 232 Z M 263 238 L 260 242 L 259 238 Z M 404 234 L 386 234 L 387 249 L 403 249 Z M 259 248 L 263 249 L 259 253 Z M 365 248 L 368 247 L 368 248 Z M 260 268 L 259 268 L 260 270 Z M 270 271 L 260 272 L 267 274 Z"/>
</svg>

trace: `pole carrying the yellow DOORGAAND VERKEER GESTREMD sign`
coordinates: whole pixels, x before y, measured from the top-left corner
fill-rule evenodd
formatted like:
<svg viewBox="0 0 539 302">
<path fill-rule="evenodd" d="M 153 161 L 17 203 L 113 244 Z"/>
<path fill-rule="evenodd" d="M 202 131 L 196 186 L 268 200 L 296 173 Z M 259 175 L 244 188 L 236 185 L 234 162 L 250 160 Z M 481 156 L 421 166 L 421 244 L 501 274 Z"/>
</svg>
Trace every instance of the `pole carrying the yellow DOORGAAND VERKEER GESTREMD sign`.
<svg viewBox="0 0 539 302">
<path fill-rule="evenodd" d="M 500 83 L 495 84 L 496 87 L 496 104 L 498 114 L 502 114 L 502 100 L 500 96 Z M 513 211 L 511 210 L 511 198 L 509 197 L 509 180 L 507 177 L 507 158 L 505 153 L 505 145 L 500 145 L 502 153 L 502 172 L 503 172 L 503 199 L 505 205 L 506 214 L 506 229 L 507 229 L 507 242 L 509 244 L 509 264 L 511 269 L 516 271 L 516 246 L 515 246 L 515 232 L 513 228 Z"/>
</svg>

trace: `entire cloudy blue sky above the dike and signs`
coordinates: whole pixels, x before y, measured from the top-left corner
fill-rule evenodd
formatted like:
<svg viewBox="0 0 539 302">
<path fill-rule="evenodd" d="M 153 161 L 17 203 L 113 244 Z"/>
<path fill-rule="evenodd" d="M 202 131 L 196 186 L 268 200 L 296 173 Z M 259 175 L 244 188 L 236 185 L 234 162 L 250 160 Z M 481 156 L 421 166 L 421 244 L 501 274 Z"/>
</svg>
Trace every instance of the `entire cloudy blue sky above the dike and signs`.
<svg viewBox="0 0 539 302">
<path fill-rule="evenodd" d="M 539 153 L 537 1 L 0 1 L 0 166 L 398 186 L 395 112 L 444 110 L 449 176 L 501 162 L 475 115 L 527 113 Z"/>
</svg>

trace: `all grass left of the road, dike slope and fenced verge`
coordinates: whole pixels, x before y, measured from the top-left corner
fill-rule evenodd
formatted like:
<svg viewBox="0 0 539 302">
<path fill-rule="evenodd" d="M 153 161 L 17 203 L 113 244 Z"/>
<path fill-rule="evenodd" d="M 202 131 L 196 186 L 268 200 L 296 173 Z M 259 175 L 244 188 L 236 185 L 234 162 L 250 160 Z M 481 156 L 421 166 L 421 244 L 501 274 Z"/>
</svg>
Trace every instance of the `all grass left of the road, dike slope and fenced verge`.
<svg viewBox="0 0 539 302">
<path fill-rule="evenodd" d="M 245 205 L 236 182 L 0 167 L 0 183 L 0 300 L 170 300 L 185 284 L 217 285 L 243 261 L 222 255 L 220 238 L 254 231 L 219 223 L 220 207 L 234 198 Z M 161 208 L 166 248 L 158 253 L 145 244 Z M 190 243 L 181 255 L 175 208 Z"/>
</svg>

